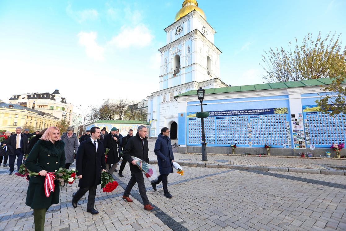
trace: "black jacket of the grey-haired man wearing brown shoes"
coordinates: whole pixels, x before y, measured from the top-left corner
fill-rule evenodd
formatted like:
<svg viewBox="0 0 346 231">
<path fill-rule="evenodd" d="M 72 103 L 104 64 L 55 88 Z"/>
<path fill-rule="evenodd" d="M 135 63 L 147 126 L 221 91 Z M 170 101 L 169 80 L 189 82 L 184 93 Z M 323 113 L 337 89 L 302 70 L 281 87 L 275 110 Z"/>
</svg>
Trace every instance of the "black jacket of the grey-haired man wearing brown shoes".
<svg viewBox="0 0 346 231">
<path fill-rule="evenodd" d="M 131 164 L 131 161 L 133 161 L 131 156 L 137 157 L 137 158 L 142 159 L 145 162 L 149 163 L 148 140 L 145 137 L 143 139 L 143 141 L 144 141 L 144 145 L 143 145 L 142 140 L 140 139 L 139 134 L 137 132 L 137 134 L 134 137 L 132 137 L 131 139 L 129 139 L 127 141 L 127 144 L 125 146 L 123 159 L 130 163 L 131 172 L 140 171 L 140 169 L 137 166 Z"/>
</svg>

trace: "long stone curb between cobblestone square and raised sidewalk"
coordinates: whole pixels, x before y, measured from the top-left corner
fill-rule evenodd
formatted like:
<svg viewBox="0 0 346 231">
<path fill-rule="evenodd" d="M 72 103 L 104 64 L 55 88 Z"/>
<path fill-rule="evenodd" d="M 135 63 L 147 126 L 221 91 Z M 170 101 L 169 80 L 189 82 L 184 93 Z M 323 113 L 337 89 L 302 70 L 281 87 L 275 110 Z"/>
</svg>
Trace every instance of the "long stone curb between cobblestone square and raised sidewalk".
<svg viewBox="0 0 346 231">
<path fill-rule="evenodd" d="M 179 163 L 179 165 L 181 166 L 187 166 L 187 167 L 228 168 L 228 169 L 236 169 L 236 170 L 257 170 L 257 171 L 272 171 L 272 172 L 299 172 L 299 173 L 308 173 L 308 174 L 324 174 L 324 175 L 338 175 L 338 176 L 345 175 L 346 176 L 346 170 L 225 165 L 225 164 L 183 162 L 183 161 L 176 161 L 176 162 Z M 149 160 L 149 163 L 157 164 L 157 160 Z"/>
</svg>

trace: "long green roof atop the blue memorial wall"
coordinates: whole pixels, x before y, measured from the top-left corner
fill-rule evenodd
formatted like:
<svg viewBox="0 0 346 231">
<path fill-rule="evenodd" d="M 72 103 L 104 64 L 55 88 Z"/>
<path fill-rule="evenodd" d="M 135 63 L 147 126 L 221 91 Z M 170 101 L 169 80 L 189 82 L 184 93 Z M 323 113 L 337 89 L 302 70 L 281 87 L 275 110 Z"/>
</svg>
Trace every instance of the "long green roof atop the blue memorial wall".
<svg viewBox="0 0 346 231">
<path fill-rule="evenodd" d="M 218 93 L 227 93 L 227 92 L 239 92 L 239 91 L 256 91 L 256 90 L 271 90 L 271 89 L 282 89 L 282 88 L 292 88 L 292 87 L 308 87 L 308 86 L 320 86 L 327 85 L 332 82 L 329 78 L 324 79 L 308 79 L 301 81 L 291 81 L 291 82 L 279 82 L 279 83 L 262 83 L 255 85 L 244 85 L 244 86 L 235 86 L 235 87 L 222 87 L 222 88 L 210 88 L 205 89 L 205 94 L 218 94 Z M 346 83 L 346 82 L 343 82 Z M 179 96 L 192 96 L 197 95 L 196 90 L 186 91 Z M 175 98 L 174 97 L 174 98 Z"/>
</svg>

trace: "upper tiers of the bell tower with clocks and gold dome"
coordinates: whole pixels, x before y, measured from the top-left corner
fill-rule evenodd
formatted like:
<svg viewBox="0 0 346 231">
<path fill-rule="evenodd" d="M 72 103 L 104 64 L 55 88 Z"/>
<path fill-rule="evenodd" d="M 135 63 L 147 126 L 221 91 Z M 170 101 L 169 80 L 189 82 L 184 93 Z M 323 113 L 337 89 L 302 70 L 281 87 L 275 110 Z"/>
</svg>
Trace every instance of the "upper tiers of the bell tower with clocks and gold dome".
<svg viewBox="0 0 346 231">
<path fill-rule="evenodd" d="M 196 0 L 185 0 L 173 24 L 165 28 L 167 45 L 160 48 L 160 90 L 219 78 L 221 51 L 216 31 Z"/>
</svg>

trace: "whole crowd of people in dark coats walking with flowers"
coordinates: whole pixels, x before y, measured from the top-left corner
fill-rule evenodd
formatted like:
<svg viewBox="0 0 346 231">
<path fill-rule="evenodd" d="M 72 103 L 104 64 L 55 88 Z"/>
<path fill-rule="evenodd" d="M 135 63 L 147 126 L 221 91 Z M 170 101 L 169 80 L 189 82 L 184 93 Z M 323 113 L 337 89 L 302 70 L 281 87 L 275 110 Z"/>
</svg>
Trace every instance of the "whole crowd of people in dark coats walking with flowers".
<svg viewBox="0 0 346 231">
<path fill-rule="evenodd" d="M 59 128 L 49 127 L 42 131 L 29 133 L 17 127 L 16 133 L 11 135 L 9 131 L 4 133 L 8 136 L 0 145 L 6 146 L 7 151 L 2 150 L 0 165 L 7 167 L 9 161 L 9 175 L 15 170 L 15 160 L 17 159 L 17 171 L 22 164 L 23 156 L 28 154 L 25 166 L 29 171 L 38 172 L 39 176 L 30 177 L 27 190 L 26 205 L 34 210 L 35 230 L 44 229 L 45 213 L 53 204 L 59 203 L 60 188 L 55 184 L 54 191 L 46 197 L 44 189 L 45 176 L 48 172 L 54 172 L 59 168 L 69 169 L 75 161 L 77 177 L 79 178 L 78 191 L 73 193 L 72 206 L 76 208 L 78 201 L 89 192 L 88 205 L 86 212 L 98 214 L 94 208 L 97 186 L 101 184 L 101 172 L 107 171 L 110 174 L 117 172 L 118 162 L 122 158 L 119 169 L 119 177 L 122 174 L 126 163 L 130 163 L 131 178 L 122 196 L 127 202 L 133 202 L 129 197 L 131 189 L 137 183 L 140 196 L 142 197 L 144 209 L 152 210 L 154 207 L 149 203 L 146 195 L 146 187 L 142 170 L 137 167 L 137 157 L 149 162 L 147 128 L 139 126 L 137 133 L 130 129 L 128 134 L 123 137 L 116 127 L 108 133 L 106 128 L 92 127 L 86 130 L 79 140 L 73 132 L 73 127 L 68 127 L 67 131 L 61 134 Z M 172 151 L 170 131 L 167 127 L 162 128 L 161 134 L 155 143 L 155 154 L 158 160 L 160 176 L 151 181 L 153 190 L 162 181 L 164 196 L 171 198 L 167 188 L 167 177 L 173 172 L 174 156 Z M 106 150 L 107 158 L 105 158 Z M 7 152 L 3 154 L 3 152 Z M 132 157 L 131 157 L 132 156 Z M 54 179 L 54 181 L 57 181 Z"/>
</svg>

